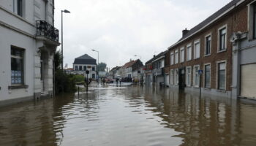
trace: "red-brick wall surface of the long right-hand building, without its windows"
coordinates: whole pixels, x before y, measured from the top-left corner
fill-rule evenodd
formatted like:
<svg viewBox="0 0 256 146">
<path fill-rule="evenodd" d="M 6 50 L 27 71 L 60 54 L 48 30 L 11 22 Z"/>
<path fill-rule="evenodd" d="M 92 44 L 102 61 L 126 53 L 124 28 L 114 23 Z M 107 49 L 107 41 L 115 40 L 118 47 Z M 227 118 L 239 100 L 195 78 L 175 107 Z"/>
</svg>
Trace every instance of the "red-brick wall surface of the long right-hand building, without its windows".
<svg viewBox="0 0 256 146">
<path fill-rule="evenodd" d="M 248 18 L 248 4 L 249 1 L 244 2 L 238 7 L 234 8 L 231 12 L 228 12 L 219 20 L 215 20 L 210 26 L 204 28 L 203 30 L 193 34 L 192 37 L 186 39 L 178 44 L 169 48 L 168 53 L 165 57 L 165 73 L 170 74 L 170 69 L 180 69 L 182 67 L 191 66 L 192 76 L 191 82 L 193 81 L 193 66 L 200 65 L 200 69 L 204 70 L 204 64 L 211 64 L 211 88 L 217 89 L 217 62 L 226 62 L 226 91 L 231 91 L 232 85 L 232 44 L 230 43 L 230 37 L 233 32 L 237 31 L 248 31 L 247 28 L 247 18 Z M 227 26 L 227 50 L 218 53 L 218 38 L 219 38 L 219 28 L 222 26 Z M 205 37 L 211 34 L 211 55 L 205 56 Z M 200 58 L 194 59 L 194 42 L 200 40 Z M 187 61 L 187 45 L 191 43 L 192 45 L 192 60 Z M 180 48 L 184 47 L 184 62 L 180 63 Z M 178 50 L 178 64 L 170 65 L 170 53 L 175 54 L 175 50 Z M 175 56 L 175 55 L 174 55 Z M 174 57 L 175 60 L 175 57 Z M 203 79 L 203 77 L 202 77 Z M 193 82 L 191 83 L 193 86 Z M 204 80 L 201 80 L 201 85 L 203 87 Z"/>
</svg>

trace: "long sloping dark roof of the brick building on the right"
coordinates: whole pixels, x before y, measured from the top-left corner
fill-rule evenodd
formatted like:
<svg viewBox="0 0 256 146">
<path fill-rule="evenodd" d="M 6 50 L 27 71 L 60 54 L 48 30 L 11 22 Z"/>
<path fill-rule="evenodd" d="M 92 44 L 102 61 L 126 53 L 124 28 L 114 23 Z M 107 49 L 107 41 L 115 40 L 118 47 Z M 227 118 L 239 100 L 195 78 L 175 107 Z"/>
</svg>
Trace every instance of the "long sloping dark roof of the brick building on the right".
<svg viewBox="0 0 256 146">
<path fill-rule="evenodd" d="M 185 34 L 183 37 L 181 37 L 181 39 L 178 40 L 178 42 L 176 42 L 176 44 L 174 44 L 174 45 L 172 45 L 172 46 L 170 46 L 168 48 L 170 49 L 171 47 L 174 47 L 174 46 L 178 45 L 179 43 L 183 42 L 185 39 L 188 39 L 193 34 L 197 33 L 197 31 L 200 31 L 200 29 L 206 27 L 209 23 L 214 23 L 215 20 L 217 20 L 220 16 L 222 16 L 222 14 L 227 12 L 233 6 L 236 6 L 238 4 L 238 2 L 240 2 L 240 1 L 242 2 L 244 0 L 233 0 L 233 1 L 230 1 L 230 3 L 226 4 L 224 7 L 219 9 L 217 12 L 215 12 L 210 17 L 206 18 L 206 20 L 203 20 L 203 22 L 199 23 L 197 26 L 195 26 L 194 28 L 191 28 L 187 32 L 187 34 Z"/>
</svg>

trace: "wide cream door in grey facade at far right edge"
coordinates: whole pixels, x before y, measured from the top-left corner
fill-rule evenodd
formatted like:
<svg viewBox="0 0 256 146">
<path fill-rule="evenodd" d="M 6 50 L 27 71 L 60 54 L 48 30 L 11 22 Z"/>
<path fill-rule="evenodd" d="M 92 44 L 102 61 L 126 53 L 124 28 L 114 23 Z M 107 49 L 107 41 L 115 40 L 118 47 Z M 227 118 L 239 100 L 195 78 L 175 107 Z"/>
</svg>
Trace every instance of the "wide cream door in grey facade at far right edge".
<svg viewBox="0 0 256 146">
<path fill-rule="evenodd" d="M 241 96 L 256 99 L 256 64 L 241 66 Z"/>
</svg>

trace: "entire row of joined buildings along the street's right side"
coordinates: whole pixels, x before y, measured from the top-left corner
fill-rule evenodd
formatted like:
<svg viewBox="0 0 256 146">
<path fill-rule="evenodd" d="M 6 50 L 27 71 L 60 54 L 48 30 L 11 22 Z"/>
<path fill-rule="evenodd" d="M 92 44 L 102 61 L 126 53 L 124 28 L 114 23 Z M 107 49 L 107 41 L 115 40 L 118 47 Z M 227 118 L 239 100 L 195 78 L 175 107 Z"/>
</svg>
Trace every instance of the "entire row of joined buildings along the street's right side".
<svg viewBox="0 0 256 146">
<path fill-rule="evenodd" d="M 145 65 L 146 84 L 256 99 L 256 1 L 233 0 Z"/>
</svg>

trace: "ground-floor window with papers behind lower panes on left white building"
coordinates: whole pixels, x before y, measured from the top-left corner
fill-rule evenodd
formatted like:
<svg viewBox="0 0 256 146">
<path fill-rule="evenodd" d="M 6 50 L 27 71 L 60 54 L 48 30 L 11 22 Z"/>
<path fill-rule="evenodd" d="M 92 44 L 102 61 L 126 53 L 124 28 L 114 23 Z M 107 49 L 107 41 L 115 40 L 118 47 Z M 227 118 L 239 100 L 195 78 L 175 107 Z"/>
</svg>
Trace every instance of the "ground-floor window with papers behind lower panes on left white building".
<svg viewBox="0 0 256 146">
<path fill-rule="evenodd" d="M 12 85 L 24 84 L 24 50 L 11 47 Z"/>
</svg>

